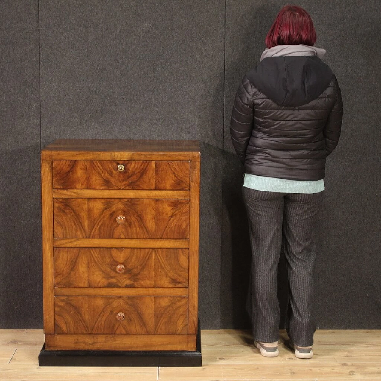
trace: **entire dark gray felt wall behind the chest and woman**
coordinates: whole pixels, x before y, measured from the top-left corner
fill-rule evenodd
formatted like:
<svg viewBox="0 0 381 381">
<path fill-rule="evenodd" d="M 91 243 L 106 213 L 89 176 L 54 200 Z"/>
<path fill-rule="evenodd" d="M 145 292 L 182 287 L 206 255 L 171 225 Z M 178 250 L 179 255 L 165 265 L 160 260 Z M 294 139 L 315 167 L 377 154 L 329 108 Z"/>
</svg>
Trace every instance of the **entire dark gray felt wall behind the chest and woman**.
<svg viewBox="0 0 381 381">
<path fill-rule="evenodd" d="M 2 3 L 0 328 L 42 328 L 39 152 L 56 138 L 198 139 L 201 328 L 249 328 L 229 119 L 280 1 Z M 319 328 L 381 328 L 378 1 L 301 1 L 343 91 L 317 236 Z M 280 263 L 279 297 L 287 303 Z"/>
</svg>

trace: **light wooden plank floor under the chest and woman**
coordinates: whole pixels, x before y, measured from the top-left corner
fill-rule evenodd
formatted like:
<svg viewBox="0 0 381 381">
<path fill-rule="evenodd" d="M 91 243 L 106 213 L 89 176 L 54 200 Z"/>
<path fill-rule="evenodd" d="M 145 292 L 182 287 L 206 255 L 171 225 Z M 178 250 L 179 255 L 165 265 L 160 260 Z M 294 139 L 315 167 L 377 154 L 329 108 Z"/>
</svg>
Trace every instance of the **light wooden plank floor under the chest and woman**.
<svg viewBox="0 0 381 381">
<path fill-rule="evenodd" d="M 38 367 L 42 345 L 42 330 L 0 330 L 0 380 L 381 380 L 381 330 L 318 330 L 310 360 L 283 343 L 267 359 L 248 330 L 201 330 L 203 366 L 195 368 Z"/>
</svg>

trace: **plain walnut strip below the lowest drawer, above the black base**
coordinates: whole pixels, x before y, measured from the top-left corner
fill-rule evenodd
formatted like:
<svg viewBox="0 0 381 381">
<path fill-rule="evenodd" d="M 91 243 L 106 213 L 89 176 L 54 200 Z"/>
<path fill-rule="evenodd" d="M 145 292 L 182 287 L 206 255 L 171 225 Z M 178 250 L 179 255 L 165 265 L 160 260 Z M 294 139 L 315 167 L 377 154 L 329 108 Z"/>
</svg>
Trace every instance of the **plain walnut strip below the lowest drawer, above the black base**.
<svg viewBox="0 0 381 381">
<path fill-rule="evenodd" d="M 195 351 L 196 335 L 45 335 L 45 349 Z"/>
</svg>

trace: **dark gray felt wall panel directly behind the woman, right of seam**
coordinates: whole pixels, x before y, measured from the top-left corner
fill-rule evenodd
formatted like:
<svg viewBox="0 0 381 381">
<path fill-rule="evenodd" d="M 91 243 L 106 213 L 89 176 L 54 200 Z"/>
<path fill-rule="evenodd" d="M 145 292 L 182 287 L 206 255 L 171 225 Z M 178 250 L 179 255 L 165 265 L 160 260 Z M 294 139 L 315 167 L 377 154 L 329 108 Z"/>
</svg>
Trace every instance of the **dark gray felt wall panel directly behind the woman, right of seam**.
<svg viewBox="0 0 381 381">
<path fill-rule="evenodd" d="M 264 37 L 282 1 L 226 4 L 221 327 L 248 324 L 245 314 L 250 247 L 240 194 L 242 165 L 229 135 L 231 104 L 245 72 L 259 61 Z M 341 86 L 340 142 L 327 158 L 326 198 L 316 237 L 318 328 L 381 328 L 380 3 L 298 1 L 314 20 L 316 46 Z M 284 258 L 279 271 L 282 321 L 287 304 Z"/>
</svg>

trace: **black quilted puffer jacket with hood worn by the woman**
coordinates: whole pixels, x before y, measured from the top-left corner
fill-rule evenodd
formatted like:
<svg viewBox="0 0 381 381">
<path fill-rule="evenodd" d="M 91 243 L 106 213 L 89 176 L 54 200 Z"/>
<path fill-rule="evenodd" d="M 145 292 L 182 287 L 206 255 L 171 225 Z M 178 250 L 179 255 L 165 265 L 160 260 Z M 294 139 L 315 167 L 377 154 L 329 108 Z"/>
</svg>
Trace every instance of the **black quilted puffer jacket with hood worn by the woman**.
<svg viewBox="0 0 381 381">
<path fill-rule="evenodd" d="M 238 88 L 232 143 L 246 173 L 319 180 L 338 144 L 342 117 L 337 79 L 320 58 L 268 57 Z"/>
</svg>

